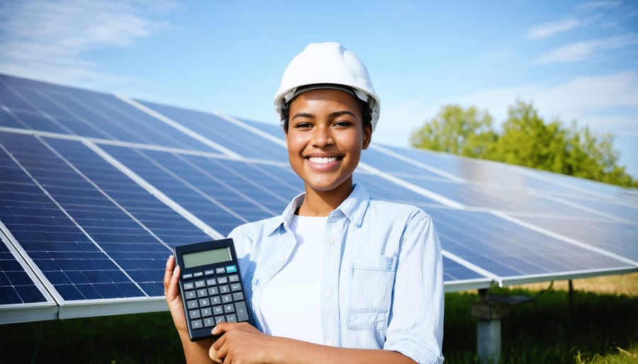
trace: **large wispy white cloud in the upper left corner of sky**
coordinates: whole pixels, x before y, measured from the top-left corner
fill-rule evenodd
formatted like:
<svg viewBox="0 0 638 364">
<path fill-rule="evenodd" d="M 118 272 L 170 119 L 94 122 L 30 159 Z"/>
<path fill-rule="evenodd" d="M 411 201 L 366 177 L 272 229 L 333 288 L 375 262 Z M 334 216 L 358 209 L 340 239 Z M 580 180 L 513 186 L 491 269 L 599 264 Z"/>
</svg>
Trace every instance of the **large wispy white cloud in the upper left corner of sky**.
<svg viewBox="0 0 638 364">
<path fill-rule="evenodd" d="M 83 58 L 90 50 L 131 47 L 157 30 L 169 27 L 140 13 L 165 11 L 170 1 L 30 0 L 0 8 L 2 72 L 75 86 L 125 84 Z"/>
</svg>

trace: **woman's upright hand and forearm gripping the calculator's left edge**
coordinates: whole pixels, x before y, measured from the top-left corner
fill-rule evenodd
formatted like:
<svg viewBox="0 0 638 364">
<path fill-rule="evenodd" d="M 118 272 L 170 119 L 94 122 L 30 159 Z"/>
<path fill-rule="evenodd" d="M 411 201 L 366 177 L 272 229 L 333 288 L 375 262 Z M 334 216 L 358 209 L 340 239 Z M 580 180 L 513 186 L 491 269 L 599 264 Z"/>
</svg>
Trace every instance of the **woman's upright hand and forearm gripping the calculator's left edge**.
<svg viewBox="0 0 638 364">
<path fill-rule="evenodd" d="M 164 295 L 166 303 L 173 317 L 173 323 L 179 334 L 181 346 L 184 347 L 186 363 L 213 363 L 208 358 L 208 349 L 211 341 L 200 340 L 191 342 L 189 330 L 186 328 L 186 317 L 184 317 L 184 307 L 181 305 L 181 296 L 177 287 L 179 279 L 179 267 L 175 266 L 175 257 L 169 256 L 164 272 Z"/>
</svg>

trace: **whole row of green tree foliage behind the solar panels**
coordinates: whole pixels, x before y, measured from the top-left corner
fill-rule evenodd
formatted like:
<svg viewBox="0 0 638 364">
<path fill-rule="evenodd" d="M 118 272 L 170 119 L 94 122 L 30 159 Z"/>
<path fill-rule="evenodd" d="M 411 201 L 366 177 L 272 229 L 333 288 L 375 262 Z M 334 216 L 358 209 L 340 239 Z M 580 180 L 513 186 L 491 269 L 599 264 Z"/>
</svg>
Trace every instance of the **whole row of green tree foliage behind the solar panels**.
<svg viewBox="0 0 638 364">
<path fill-rule="evenodd" d="M 618 165 L 613 142 L 612 135 L 579 128 L 576 121 L 546 123 L 532 103 L 522 101 L 508 108 L 500 133 L 487 110 L 448 105 L 410 135 L 414 147 L 638 187 L 638 179 Z"/>
</svg>

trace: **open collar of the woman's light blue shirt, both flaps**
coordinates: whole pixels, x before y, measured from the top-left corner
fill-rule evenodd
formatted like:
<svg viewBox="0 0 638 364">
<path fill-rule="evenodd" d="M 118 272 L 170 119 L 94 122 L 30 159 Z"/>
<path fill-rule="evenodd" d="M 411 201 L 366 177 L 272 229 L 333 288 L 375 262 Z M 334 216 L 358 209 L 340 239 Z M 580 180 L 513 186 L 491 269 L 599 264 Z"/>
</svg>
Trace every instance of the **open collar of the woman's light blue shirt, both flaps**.
<svg viewBox="0 0 638 364">
<path fill-rule="evenodd" d="M 303 203 L 303 198 L 306 196 L 306 193 L 300 193 L 293 198 L 293 200 L 288 204 L 286 210 L 272 220 L 272 225 L 267 227 L 267 232 L 269 234 L 274 234 L 281 225 L 284 226 L 286 230 L 290 230 L 290 224 L 292 222 L 293 216 L 295 215 L 295 211 L 301 203 Z M 364 216 L 366 215 L 366 210 L 368 210 L 368 205 L 370 203 L 370 196 L 363 188 L 363 186 L 354 183 L 354 188 L 352 188 L 352 193 L 337 207 L 336 210 L 330 212 L 331 217 L 335 217 L 335 214 L 341 213 L 345 215 L 345 217 L 350 220 L 357 227 L 361 227 L 363 224 Z"/>
</svg>

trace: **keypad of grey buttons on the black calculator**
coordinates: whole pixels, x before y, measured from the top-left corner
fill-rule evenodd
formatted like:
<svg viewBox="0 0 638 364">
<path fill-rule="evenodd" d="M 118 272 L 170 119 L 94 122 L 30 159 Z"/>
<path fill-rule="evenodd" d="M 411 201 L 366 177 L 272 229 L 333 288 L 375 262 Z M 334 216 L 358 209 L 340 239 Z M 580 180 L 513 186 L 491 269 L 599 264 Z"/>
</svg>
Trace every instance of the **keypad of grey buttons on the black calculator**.
<svg viewBox="0 0 638 364">
<path fill-rule="evenodd" d="M 182 275 L 181 279 L 191 329 L 248 321 L 237 266 Z"/>
</svg>

